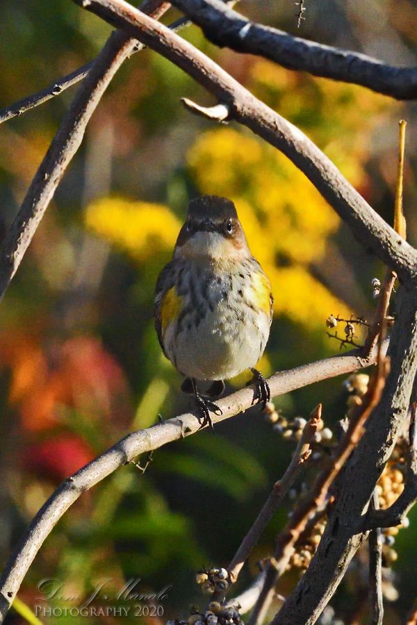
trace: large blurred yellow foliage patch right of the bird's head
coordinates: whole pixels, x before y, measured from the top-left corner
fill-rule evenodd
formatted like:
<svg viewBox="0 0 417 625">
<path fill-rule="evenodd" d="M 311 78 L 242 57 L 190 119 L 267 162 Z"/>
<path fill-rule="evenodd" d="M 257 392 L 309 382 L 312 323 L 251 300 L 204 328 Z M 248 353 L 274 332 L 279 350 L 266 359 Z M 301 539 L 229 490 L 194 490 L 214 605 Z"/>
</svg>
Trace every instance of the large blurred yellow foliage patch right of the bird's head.
<svg viewBox="0 0 417 625">
<path fill-rule="evenodd" d="M 252 253 L 270 278 L 275 315 L 309 326 L 323 325 L 332 310 L 350 315 L 308 268 L 324 255 L 338 217 L 286 157 L 254 137 L 220 128 L 197 139 L 188 163 L 202 193 L 236 203 Z"/>
</svg>

